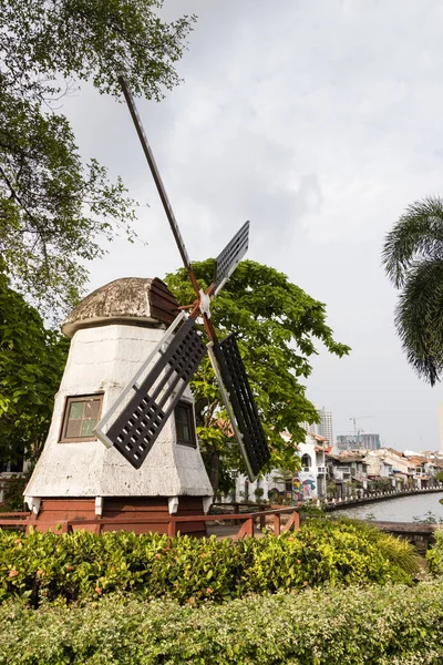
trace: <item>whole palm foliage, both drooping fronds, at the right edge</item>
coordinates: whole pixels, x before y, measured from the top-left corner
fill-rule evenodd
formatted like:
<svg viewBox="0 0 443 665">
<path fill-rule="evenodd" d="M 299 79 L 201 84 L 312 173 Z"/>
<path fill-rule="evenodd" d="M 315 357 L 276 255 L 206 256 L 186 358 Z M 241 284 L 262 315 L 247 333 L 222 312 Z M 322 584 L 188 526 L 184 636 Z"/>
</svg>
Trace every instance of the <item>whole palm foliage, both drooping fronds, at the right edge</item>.
<svg viewBox="0 0 443 665">
<path fill-rule="evenodd" d="M 382 262 L 401 289 L 395 327 L 409 362 L 434 386 L 443 372 L 443 200 L 409 206 L 387 235 Z"/>
</svg>

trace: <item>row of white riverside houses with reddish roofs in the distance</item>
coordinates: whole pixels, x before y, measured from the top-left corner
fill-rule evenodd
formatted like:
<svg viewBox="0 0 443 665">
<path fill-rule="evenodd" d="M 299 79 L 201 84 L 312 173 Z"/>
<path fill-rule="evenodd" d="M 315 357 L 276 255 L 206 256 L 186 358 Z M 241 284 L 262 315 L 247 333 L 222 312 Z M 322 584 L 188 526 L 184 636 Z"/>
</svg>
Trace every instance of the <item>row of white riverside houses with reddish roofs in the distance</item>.
<svg viewBox="0 0 443 665">
<path fill-rule="evenodd" d="M 404 453 L 392 448 L 332 453 L 329 441 L 307 432 L 298 446 L 300 470 L 275 470 L 255 483 L 243 475 L 236 481 L 236 501 L 286 499 L 343 499 L 380 490 L 425 489 L 437 483 L 443 471 L 441 453 Z"/>
</svg>

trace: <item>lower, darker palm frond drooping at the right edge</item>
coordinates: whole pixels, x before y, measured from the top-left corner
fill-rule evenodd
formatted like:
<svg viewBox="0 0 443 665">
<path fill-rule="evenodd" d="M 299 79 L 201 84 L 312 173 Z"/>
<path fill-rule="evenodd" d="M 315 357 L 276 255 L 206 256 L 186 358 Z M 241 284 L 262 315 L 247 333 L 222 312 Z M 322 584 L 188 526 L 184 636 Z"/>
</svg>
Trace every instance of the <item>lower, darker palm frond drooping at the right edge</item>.
<svg viewBox="0 0 443 665">
<path fill-rule="evenodd" d="M 443 370 L 443 260 L 412 264 L 395 310 L 408 361 L 434 386 Z"/>
</svg>

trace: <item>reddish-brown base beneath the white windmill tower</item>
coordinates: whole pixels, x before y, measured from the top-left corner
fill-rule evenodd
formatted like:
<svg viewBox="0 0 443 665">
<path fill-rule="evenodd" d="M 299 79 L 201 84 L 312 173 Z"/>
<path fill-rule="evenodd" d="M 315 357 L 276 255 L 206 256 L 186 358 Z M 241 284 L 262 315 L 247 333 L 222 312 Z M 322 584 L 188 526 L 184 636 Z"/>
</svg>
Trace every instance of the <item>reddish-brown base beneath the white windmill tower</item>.
<svg viewBox="0 0 443 665">
<path fill-rule="evenodd" d="M 173 501 L 171 501 L 173 499 Z M 177 504 L 178 500 L 178 504 Z M 206 524 L 193 521 L 203 515 L 206 497 L 43 497 L 40 510 L 33 513 L 29 524 L 37 531 L 134 531 L 135 533 L 169 533 L 171 507 L 174 516 L 186 516 L 176 530 L 182 534 L 206 535 Z"/>
</svg>

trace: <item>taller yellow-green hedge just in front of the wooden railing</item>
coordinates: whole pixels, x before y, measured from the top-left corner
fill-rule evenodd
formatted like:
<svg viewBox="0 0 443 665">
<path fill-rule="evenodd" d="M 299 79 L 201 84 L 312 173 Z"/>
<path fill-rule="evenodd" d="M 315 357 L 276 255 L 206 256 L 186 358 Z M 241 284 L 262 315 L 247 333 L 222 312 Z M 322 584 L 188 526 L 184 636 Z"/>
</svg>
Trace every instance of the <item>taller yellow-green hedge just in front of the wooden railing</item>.
<svg viewBox="0 0 443 665">
<path fill-rule="evenodd" d="M 280 538 L 218 542 L 158 534 L 0 532 L 0 600 L 38 606 L 110 592 L 199 604 L 322 584 L 411 583 L 418 556 L 373 526 L 311 520 Z"/>
</svg>

